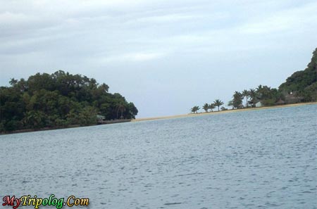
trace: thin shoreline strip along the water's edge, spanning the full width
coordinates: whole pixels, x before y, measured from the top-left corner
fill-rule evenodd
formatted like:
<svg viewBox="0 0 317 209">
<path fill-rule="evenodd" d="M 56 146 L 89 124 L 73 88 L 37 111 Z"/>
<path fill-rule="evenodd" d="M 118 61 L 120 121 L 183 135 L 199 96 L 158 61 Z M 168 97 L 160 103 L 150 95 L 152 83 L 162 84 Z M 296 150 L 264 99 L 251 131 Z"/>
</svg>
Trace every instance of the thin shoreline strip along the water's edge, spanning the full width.
<svg viewBox="0 0 317 209">
<path fill-rule="evenodd" d="M 266 109 L 273 109 L 273 108 L 287 108 L 287 107 L 296 107 L 296 106 L 306 106 L 306 105 L 315 105 L 316 102 L 306 102 L 306 103 L 292 103 L 292 104 L 286 104 L 286 105 L 280 105 L 280 106 L 266 106 L 261 108 L 242 108 L 242 109 L 234 109 L 234 110 L 220 110 L 220 111 L 213 111 L 209 113 L 187 113 L 182 115 L 168 115 L 168 116 L 159 116 L 159 117 L 150 117 L 150 118 L 137 118 L 130 121 L 123 120 L 122 122 L 140 122 L 140 121 L 148 121 L 148 120 L 165 120 L 165 119 L 174 119 L 174 118 L 187 118 L 187 117 L 199 117 L 203 115 L 218 115 L 218 114 L 225 114 L 225 113 L 238 113 L 238 112 L 244 112 L 244 111 L 253 111 L 253 110 L 266 110 Z M 105 122 L 104 124 L 98 124 L 98 125 L 107 125 L 107 124 L 115 124 L 115 123 L 121 123 L 116 122 Z M 70 129 L 75 127 L 89 127 L 89 126 L 96 126 L 96 125 L 70 125 L 69 127 L 44 127 L 42 129 L 20 129 L 15 130 L 13 132 L 4 132 L 0 133 L 1 135 L 6 134 L 20 134 L 20 133 L 26 133 L 26 132 L 41 132 L 41 131 L 49 131 L 49 130 L 55 130 L 55 129 Z"/>
</svg>

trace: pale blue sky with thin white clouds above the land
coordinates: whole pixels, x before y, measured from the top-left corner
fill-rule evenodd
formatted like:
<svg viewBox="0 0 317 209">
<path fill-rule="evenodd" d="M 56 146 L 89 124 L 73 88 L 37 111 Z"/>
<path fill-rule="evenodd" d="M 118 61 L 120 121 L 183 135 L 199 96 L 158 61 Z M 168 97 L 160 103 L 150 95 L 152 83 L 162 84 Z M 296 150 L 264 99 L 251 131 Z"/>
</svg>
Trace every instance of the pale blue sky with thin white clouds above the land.
<svg viewBox="0 0 317 209">
<path fill-rule="evenodd" d="M 137 118 L 278 87 L 317 47 L 317 1 L 0 0 L 0 85 L 36 72 L 94 77 Z"/>
</svg>

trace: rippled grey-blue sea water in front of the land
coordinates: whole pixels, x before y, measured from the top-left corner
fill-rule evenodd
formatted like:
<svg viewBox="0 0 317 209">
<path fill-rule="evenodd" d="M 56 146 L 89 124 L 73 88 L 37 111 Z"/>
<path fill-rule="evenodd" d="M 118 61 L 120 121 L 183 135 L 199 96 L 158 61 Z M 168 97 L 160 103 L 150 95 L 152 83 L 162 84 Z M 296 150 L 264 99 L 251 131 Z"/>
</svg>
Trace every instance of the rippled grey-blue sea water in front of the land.
<svg viewBox="0 0 317 209">
<path fill-rule="evenodd" d="M 1 200 L 317 208 L 317 105 L 10 134 L 0 143 Z"/>
</svg>

